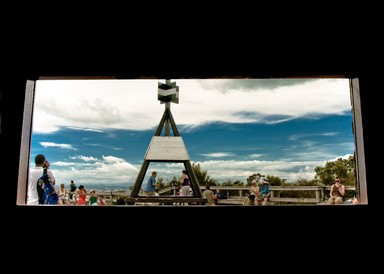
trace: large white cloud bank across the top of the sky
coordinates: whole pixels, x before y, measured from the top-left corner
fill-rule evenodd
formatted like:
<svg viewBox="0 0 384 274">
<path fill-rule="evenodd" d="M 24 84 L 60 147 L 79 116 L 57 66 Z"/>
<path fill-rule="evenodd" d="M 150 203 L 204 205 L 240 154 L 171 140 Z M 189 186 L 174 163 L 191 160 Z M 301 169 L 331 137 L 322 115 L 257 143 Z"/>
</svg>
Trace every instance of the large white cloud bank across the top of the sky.
<svg viewBox="0 0 384 274">
<path fill-rule="evenodd" d="M 246 84 L 246 80 L 222 79 L 172 81 L 180 91 L 179 104 L 171 104 L 172 114 L 178 124 L 190 126 L 211 121 L 274 123 L 351 109 L 347 79 L 302 79 L 302 84 L 295 79 L 286 86 L 281 83 L 287 80 L 275 79 Z M 273 81 L 279 84 L 271 89 Z M 153 128 L 164 112 L 164 105 L 157 100 L 158 82 L 165 81 L 39 80 L 33 130 Z"/>
</svg>

